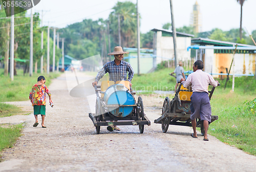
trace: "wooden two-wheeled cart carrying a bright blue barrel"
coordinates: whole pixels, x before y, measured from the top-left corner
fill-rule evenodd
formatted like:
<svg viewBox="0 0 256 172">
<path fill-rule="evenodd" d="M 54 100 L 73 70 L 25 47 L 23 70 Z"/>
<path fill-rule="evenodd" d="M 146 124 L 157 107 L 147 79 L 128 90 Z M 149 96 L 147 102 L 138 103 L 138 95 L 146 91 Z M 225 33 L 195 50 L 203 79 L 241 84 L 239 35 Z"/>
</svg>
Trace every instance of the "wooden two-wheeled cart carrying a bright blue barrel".
<svg viewBox="0 0 256 172">
<path fill-rule="evenodd" d="M 136 103 L 132 90 L 129 91 L 122 84 L 110 86 L 105 91 L 100 91 L 101 86 L 94 86 L 96 92 L 95 113 L 89 113 L 97 134 L 100 126 L 139 126 L 140 133 L 144 132 L 144 125 L 151 125 L 151 121 L 144 114 L 141 96 Z M 103 93 L 101 98 L 99 93 Z"/>
</svg>

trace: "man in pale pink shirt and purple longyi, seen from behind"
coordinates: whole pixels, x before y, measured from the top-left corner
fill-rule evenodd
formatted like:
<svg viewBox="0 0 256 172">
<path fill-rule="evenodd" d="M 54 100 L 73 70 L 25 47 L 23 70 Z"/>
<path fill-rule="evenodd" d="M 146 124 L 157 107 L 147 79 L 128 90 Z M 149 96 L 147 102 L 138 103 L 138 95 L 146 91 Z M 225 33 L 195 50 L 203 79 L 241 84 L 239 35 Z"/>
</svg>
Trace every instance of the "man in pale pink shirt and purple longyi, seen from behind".
<svg viewBox="0 0 256 172">
<path fill-rule="evenodd" d="M 208 85 L 210 84 L 214 87 L 217 87 L 219 82 L 215 81 L 214 78 L 209 75 L 209 73 L 202 71 L 203 67 L 203 61 L 197 60 L 193 65 L 194 72 L 187 77 L 186 81 L 184 78 L 182 78 L 180 81 L 185 88 L 188 88 L 191 85 L 193 91 L 193 94 L 190 97 L 190 119 L 194 133 L 191 134 L 191 137 L 198 138 L 196 130 L 196 118 L 201 118 L 204 125 L 203 140 L 208 141 L 209 139 L 207 138 L 207 131 L 211 121 L 211 107 L 208 96 Z"/>
</svg>

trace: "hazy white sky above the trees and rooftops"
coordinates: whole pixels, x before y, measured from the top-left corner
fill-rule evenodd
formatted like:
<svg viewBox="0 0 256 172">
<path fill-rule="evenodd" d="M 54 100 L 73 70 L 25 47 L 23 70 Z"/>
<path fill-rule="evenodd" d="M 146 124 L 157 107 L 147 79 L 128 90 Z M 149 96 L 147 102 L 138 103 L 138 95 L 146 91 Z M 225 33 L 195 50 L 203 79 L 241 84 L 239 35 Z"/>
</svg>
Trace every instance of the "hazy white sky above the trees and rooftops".
<svg viewBox="0 0 256 172">
<path fill-rule="evenodd" d="M 64 28 L 68 24 L 80 22 L 86 18 L 107 19 L 113 11 L 111 8 L 117 2 L 117 0 L 41 0 L 33 10 L 40 13 L 41 10 L 50 10 L 44 12 L 44 26 L 47 26 L 50 21 L 50 26 Z M 131 2 L 137 1 L 131 0 Z M 196 0 L 173 0 L 176 28 L 189 25 L 195 2 Z M 240 27 L 240 5 L 237 0 L 198 0 L 198 4 L 202 14 L 203 32 L 214 28 L 228 31 Z M 255 0 L 247 0 L 243 6 L 243 27 L 246 27 L 250 33 L 256 30 L 255 7 Z M 169 0 L 139 0 L 139 12 L 142 33 L 154 28 L 161 29 L 164 23 L 171 21 Z"/>
</svg>

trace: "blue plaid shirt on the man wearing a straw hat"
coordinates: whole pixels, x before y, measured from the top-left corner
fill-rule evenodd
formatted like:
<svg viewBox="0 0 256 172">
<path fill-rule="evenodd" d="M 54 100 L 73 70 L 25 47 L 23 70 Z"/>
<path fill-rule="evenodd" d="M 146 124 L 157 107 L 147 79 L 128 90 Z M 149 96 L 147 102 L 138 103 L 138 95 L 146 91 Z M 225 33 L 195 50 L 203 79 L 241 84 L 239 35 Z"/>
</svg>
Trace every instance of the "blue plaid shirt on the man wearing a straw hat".
<svg viewBox="0 0 256 172">
<path fill-rule="evenodd" d="M 99 80 L 105 75 L 105 73 L 109 72 L 110 81 L 126 81 L 127 73 L 129 72 L 127 81 L 132 81 L 133 79 L 133 68 L 131 64 L 125 61 L 121 61 L 119 65 L 113 61 L 106 63 L 98 72 L 95 81 L 99 82 Z"/>
</svg>

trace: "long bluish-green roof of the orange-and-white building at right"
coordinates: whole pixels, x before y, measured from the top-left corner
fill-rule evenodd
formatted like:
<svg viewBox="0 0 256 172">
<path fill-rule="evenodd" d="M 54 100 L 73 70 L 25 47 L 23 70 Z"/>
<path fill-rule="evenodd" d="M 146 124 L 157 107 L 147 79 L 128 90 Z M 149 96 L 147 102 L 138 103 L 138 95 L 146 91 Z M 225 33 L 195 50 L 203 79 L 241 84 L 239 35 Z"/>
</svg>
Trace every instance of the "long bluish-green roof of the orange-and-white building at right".
<svg viewBox="0 0 256 172">
<path fill-rule="evenodd" d="M 219 46 L 236 46 L 237 44 L 238 46 L 253 46 L 253 45 L 247 45 L 242 43 L 219 41 L 219 40 L 207 39 L 207 38 L 194 38 L 194 39 L 191 39 L 191 43 L 198 43 L 200 45 L 219 45 Z"/>
</svg>

